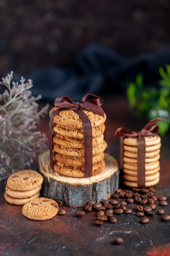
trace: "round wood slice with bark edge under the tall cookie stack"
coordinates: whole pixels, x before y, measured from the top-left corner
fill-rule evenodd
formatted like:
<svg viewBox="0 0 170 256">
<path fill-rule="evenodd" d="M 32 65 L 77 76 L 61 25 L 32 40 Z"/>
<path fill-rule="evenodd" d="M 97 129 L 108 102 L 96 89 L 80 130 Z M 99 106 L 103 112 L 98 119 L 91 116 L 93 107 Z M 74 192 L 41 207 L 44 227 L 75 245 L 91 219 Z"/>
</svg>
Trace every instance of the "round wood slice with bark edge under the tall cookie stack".
<svg viewBox="0 0 170 256">
<path fill-rule="evenodd" d="M 105 153 L 104 170 L 91 177 L 68 177 L 53 171 L 50 166 L 49 150 L 38 157 L 38 171 L 43 175 L 42 196 L 61 200 L 69 207 L 85 206 L 89 200 L 99 202 L 108 199 L 119 188 L 119 164 Z"/>
</svg>

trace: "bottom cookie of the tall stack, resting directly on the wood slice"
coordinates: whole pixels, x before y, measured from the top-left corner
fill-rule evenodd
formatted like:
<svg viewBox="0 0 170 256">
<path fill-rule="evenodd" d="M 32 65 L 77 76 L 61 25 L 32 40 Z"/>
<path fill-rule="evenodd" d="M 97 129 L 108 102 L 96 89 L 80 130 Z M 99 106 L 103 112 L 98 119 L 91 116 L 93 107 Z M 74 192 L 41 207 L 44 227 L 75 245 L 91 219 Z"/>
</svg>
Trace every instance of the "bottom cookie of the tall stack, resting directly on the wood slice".
<svg viewBox="0 0 170 256">
<path fill-rule="evenodd" d="M 92 176 L 101 173 L 104 169 L 105 161 L 102 160 L 92 166 Z M 60 163 L 56 163 L 54 165 L 54 171 L 60 173 L 62 175 L 70 176 L 70 177 L 84 177 L 84 166 L 69 166 Z"/>
</svg>

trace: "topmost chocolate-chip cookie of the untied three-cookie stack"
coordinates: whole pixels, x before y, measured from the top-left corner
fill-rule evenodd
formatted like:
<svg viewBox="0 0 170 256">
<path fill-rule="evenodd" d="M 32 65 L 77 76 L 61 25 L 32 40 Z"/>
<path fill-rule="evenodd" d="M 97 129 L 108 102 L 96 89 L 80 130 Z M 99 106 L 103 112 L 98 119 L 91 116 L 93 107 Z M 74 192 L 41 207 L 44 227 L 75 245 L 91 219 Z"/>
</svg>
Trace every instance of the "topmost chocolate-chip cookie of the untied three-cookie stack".
<svg viewBox="0 0 170 256">
<path fill-rule="evenodd" d="M 9 175 L 7 185 L 10 189 L 27 191 L 42 185 L 43 177 L 38 171 L 22 170 Z"/>
</svg>

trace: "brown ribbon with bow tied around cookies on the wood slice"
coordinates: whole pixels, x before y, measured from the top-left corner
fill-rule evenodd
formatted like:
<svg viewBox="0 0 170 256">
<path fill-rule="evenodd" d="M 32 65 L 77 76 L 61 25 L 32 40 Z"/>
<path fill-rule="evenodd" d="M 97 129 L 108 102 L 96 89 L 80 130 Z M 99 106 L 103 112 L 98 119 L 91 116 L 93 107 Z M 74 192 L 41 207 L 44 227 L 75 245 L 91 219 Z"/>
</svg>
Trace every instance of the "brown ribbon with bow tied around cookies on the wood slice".
<svg viewBox="0 0 170 256">
<path fill-rule="evenodd" d="M 87 100 L 88 97 L 93 99 Z M 86 94 L 80 102 L 73 102 L 69 97 L 58 97 L 55 99 L 54 105 L 59 109 L 51 113 L 50 116 L 50 164 L 53 168 L 53 117 L 63 110 L 74 110 L 82 119 L 84 128 L 84 177 L 92 176 L 92 126 L 91 122 L 82 111 L 82 108 L 94 112 L 104 117 L 104 111 L 101 106 L 102 98 L 95 94 Z"/>
</svg>

